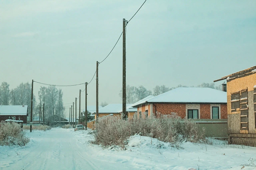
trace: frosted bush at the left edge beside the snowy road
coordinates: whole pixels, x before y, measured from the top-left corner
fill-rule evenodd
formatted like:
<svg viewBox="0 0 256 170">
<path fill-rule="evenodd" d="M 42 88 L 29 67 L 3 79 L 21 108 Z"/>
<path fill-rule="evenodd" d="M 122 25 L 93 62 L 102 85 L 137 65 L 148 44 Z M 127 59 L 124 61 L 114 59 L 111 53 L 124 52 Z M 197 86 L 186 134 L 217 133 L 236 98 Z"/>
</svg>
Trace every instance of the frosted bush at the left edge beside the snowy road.
<svg viewBox="0 0 256 170">
<path fill-rule="evenodd" d="M 15 122 L 1 122 L 0 123 L 0 145 L 24 146 L 29 142 L 29 138 L 25 136 L 21 125 Z"/>
</svg>

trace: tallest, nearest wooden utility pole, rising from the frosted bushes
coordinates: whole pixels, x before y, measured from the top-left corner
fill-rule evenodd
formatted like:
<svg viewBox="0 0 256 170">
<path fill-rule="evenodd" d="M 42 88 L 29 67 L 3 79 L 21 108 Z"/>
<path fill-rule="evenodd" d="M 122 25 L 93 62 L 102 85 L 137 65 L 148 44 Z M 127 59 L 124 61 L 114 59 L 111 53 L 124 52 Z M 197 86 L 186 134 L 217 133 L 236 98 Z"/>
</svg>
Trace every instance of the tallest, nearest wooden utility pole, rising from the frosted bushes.
<svg viewBox="0 0 256 170">
<path fill-rule="evenodd" d="M 126 20 L 123 19 L 123 119 L 127 119 L 126 113 L 126 44 L 125 44 Z"/>
</svg>

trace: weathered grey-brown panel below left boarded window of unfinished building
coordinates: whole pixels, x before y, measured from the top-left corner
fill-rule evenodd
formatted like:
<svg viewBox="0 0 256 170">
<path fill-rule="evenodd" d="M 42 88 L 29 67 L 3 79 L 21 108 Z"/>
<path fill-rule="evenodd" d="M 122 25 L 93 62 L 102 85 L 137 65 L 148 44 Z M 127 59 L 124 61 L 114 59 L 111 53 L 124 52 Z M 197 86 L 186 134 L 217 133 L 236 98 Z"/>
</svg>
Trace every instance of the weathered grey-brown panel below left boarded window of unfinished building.
<svg viewBox="0 0 256 170">
<path fill-rule="evenodd" d="M 240 133 L 240 114 L 228 115 L 228 133 Z"/>
</svg>

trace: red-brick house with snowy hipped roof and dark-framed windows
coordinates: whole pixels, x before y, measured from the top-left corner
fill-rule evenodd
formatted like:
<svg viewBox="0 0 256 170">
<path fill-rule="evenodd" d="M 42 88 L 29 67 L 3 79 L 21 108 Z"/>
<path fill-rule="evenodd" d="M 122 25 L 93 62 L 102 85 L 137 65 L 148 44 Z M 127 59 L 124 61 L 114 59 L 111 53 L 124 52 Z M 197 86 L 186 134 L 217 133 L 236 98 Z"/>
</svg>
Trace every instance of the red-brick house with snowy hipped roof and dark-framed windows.
<svg viewBox="0 0 256 170">
<path fill-rule="evenodd" d="M 132 107 L 137 108 L 138 119 L 150 118 L 156 112 L 174 112 L 188 119 L 227 119 L 227 93 L 204 87 L 178 87 L 155 97 L 148 96 Z"/>
</svg>

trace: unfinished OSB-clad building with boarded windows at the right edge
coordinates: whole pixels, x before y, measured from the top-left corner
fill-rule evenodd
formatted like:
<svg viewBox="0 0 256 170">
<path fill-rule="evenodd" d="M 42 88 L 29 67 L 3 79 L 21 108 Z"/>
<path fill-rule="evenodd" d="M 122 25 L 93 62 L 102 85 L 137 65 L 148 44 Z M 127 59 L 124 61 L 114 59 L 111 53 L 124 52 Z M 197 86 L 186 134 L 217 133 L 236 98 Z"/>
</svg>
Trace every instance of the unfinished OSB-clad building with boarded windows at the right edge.
<svg viewBox="0 0 256 170">
<path fill-rule="evenodd" d="M 256 147 L 256 66 L 214 82 L 225 79 L 229 143 Z"/>
</svg>

